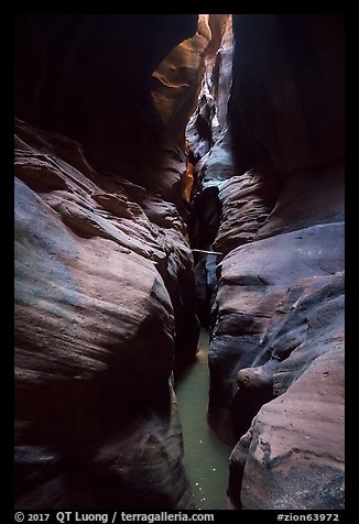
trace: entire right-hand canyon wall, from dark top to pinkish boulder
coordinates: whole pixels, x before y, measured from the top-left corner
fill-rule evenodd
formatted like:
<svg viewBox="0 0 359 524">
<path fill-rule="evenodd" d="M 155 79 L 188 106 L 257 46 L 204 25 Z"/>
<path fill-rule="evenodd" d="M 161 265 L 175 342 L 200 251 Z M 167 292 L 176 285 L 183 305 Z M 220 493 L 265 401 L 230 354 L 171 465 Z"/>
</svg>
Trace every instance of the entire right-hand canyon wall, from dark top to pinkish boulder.
<svg viewBox="0 0 359 524">
<path fill-rule="evenodd" d="M 229 105 L 219 103 L 228 125 L 207 142 L 187 128 L 191 240 L 218 253 L 195 273 L 211 327 L 208 417 L 238 443 L 233 507 L 340 509 L 342 20 L 235 15 L 233 37 Z M 209 114 L 217 129 L 218 101 L 205 95 L 194 119 Z"/>
</svg>

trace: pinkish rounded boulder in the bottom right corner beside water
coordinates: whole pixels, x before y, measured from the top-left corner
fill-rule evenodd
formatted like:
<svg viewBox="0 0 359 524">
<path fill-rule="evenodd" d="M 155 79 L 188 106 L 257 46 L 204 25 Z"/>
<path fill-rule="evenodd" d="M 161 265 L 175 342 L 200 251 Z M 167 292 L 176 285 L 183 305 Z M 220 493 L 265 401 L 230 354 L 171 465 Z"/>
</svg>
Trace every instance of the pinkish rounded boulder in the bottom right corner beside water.
<svg viewBox="0 0 359 524">
<path fill-rule="evenodd" d="M 342 374 L 342 350 L 328 350 L 260 410 L 231 454 L 243 510 L 344 509 Z"/>
</svg>

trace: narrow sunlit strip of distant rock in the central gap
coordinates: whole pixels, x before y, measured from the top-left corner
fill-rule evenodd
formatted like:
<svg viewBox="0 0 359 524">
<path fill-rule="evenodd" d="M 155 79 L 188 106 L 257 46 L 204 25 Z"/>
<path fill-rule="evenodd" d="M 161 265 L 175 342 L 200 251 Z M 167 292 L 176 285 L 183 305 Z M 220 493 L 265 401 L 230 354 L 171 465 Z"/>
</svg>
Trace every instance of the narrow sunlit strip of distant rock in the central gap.
<svg viewBox="0 0 359 524">
<path fill-rule="evenodd" d="M 221 183 L 236 174 L 227 128 L 227 101 L 231 85 L 232 19 L 228 14 L 210 14 L 211 42 L 205 55 L 205 69 L 197 108 L 186 128 L 188 163 L 193 174 L 192 210 L 188 237 L 196 252 L 195 281 L 198 317 L 210 325 L 219 252 L 214 242 L 222 220 Z"/>
</svg>

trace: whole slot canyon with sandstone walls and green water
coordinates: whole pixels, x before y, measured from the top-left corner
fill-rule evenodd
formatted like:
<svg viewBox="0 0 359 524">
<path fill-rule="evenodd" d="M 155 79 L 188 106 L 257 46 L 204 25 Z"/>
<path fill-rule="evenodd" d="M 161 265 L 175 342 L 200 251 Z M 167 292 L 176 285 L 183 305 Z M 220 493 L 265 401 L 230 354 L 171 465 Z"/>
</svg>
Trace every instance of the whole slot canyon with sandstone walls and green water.
<svg viewBox="0 0 359 524">
<path fill-rule="evenodd" d="M 344 509 L 344 36 L 17 15 L 17 509 Z"/>
</svg>

